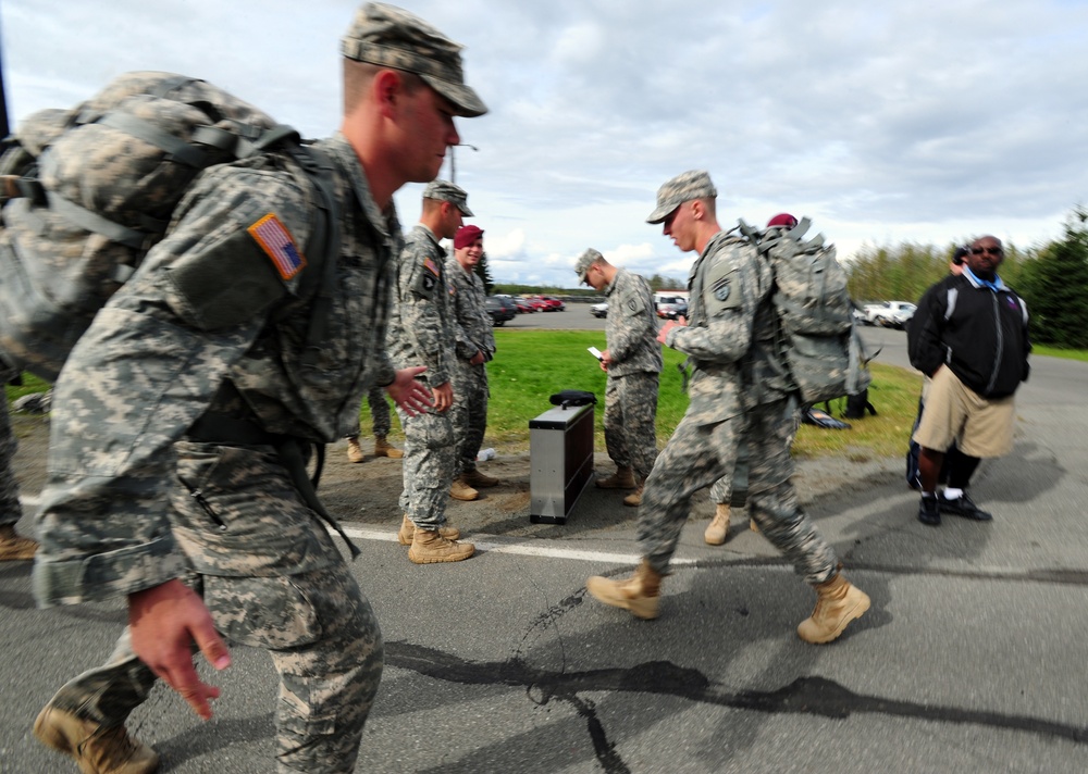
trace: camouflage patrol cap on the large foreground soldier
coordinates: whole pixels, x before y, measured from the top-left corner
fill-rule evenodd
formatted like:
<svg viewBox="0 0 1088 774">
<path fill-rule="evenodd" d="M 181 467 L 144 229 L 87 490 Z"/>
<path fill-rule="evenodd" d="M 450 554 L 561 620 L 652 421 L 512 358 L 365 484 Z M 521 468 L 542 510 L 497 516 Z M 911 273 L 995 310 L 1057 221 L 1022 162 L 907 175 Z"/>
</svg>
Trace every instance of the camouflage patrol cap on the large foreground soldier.
<svg viewBox="0 0 1088 774">
<path fill-rule="evenodd" d="M 415 73 L 471 118 L 487 108 L 465 84 L 461 48 L 419 16 L 381 2 L 360 8 L 341 41 L 348 59 Z"/>
</svg>

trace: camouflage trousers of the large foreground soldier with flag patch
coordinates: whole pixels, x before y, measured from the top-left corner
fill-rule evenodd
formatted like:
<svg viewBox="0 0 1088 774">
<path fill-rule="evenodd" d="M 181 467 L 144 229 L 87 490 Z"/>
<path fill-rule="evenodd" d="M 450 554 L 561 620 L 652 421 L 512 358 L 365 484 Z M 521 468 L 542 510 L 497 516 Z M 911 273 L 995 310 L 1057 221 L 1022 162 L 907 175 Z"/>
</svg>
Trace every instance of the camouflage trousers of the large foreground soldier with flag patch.
<svg viewBox="0 0 1088 774">
<path fill-rule="evenodd" d="M 193 569 L 186 582 L 224 637 L 268 650 L 280 672 L 276 771 L 354 771 L 384 661 L 370 603 L 269 447 L 176 447 L 188 489 L 172 497 L 172 522 Z M 190 496 L 197 488 L 203 503 Z M 53 703 L 115 725 L 153 682 L 126 629 L 107 664 Z"/>
</svg>

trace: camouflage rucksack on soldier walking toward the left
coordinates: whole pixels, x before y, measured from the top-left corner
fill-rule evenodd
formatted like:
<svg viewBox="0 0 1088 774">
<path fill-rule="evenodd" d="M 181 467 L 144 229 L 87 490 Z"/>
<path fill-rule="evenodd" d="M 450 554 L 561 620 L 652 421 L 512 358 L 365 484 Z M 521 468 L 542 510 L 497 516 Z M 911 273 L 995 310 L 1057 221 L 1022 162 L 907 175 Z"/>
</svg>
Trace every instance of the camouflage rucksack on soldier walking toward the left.
<svg viewBox="0 0 1088 774">
<path fill-rule="evenodd" d="M 805 239 L 809 225 L 805 217 L 793 228 L 759 230 L 740 221 L 741 234 L 774 272 L 771 302 L 782 352 L 802 402 L 811 405 L 868 387 L 871 358 L 854 327 L 854 304 L 834 245 L 826 245 L 823 234 Z"/>
</svg>

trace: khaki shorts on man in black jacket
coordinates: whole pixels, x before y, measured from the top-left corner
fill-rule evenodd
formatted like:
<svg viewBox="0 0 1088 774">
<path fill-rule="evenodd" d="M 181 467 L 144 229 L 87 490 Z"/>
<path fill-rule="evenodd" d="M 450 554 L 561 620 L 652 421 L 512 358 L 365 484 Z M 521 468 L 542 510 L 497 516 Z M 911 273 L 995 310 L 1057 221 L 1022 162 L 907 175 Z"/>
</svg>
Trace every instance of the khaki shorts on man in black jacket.
<svg viewBox="0 0 1088 774">
<path fill-rule="evenodd" d="M 926 403 L 914 440 L 924 449 L 948 451 L 952 441 L 970 457 L 1001 457 L 1013 449 L 1013 396 L 987 400 L 964 386 L 948 366 L 923 391 Z"/>
</svg>

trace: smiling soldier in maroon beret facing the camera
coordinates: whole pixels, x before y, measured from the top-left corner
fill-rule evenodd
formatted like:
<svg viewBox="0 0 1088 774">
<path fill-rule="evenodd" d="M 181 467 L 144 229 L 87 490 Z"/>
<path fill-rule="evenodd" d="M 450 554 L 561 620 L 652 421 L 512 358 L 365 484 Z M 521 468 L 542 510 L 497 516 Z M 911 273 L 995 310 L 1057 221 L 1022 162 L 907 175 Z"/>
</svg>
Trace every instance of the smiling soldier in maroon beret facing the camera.
<svg viewBox="0 0 1088 774">
<path fill-rule="evenodd" d="M 477 454 L 487 429 L 487 363 L 495 357 L 495 333 L 484 299 L 487 294 L 475 267 L 483 258 L 483 229 L 462 226 L 454 237 L 454 255 L 446 259 L 446 276 L 453 288 L 454 409 L 450 420 L 457 438 L 457 472 L 450 497 L 475 500 L 481 487 L 498 479 L 477 469 Z"/>
</svg>

